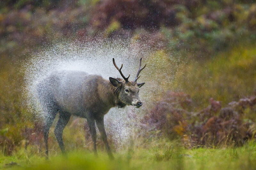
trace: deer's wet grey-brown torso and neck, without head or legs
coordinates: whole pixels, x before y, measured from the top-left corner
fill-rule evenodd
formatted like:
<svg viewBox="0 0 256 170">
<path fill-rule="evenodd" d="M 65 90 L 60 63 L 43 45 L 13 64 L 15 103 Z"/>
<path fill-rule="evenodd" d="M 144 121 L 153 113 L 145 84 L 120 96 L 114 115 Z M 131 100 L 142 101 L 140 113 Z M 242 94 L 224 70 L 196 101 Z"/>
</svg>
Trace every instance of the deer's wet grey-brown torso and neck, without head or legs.
<svg viewBox="0 0 256 170">
<path fill-rule="evenodd" d="M 109 80 L 82 71 L 52 73 L 39 85 L 44 89 L 40 97 L 55 100 L 68 113 L 87 118 L 88 113 L 105 115 L 116 106 L 116 95 Z"/>
</svg>

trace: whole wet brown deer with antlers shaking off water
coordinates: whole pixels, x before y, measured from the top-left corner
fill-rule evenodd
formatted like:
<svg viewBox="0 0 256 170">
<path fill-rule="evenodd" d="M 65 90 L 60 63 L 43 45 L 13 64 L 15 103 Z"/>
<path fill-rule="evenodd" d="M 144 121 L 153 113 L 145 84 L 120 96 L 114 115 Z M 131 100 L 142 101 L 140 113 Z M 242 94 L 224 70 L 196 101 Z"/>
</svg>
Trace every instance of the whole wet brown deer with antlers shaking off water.
<svg viewBox="0 0 256 170">
<path fill-rule="evenodd" d="M 83 71 L 62 70 L 48 74 L 37 84 L 37 96 L 44 112 L 43 136 L 47 158 L 49 156 L 49 130 L 57 113 L 59 113 L 59 120 L 54 134 L 62 153 L 65 153 L 62 139 L 63 129 L 68 124 L 71 115 L 75 115 L 87 120 L 94 154 L 97 156 L 96 122 L 108 156 L 111 159 L 114 158 L 108 144 L 104 115 L 112 107 L 123 108 L 131 105 L 139 108 L 142 106 L 139 90 L 145 83 L 137 83 L 137 80 L 146 64 L 141 68 L 141 60 L 142 58 L 140 58 L 139 70 L 134 81 L 129 80 L 130 74 L 127 78 L 124 76 L 121 71 L 123 64 L 118 68 L 113 58 L 113 64 L 123 79 L 109 77 L 109 80 L 106 80 L 99 75 L 92 75 Z"/>
</svg>

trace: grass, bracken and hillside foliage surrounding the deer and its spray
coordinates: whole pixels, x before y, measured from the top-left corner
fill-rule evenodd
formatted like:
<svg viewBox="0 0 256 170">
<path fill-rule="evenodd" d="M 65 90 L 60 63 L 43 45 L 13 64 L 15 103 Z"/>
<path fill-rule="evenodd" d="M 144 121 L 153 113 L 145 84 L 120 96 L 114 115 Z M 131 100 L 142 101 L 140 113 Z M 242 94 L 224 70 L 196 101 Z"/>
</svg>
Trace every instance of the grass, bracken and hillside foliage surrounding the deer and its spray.
<svg viewBox="0 0 256 170">
<path fill-rule="evenodd" d="M 128 39 L 154 51 L 147 62 L 160 63 L 145 77 L 163 90 L 155 94 L 154 107 L 143 109 L 131 145 L 115 147 L 108 132 L 113 161 L 101 140 L 102 153 L 93 156 L 88 125 L 75 117 L 63 132 L 68 154 L 60 155 L 51 129 L 51 157 L 44 159 L 42 123 L 25 105 L 22 69 L 29 54 L 66 39 Z M 255 169 L 255 70 L 256 4 L 251 0 L 1 1 L 1 166 Z"/>
</svg>

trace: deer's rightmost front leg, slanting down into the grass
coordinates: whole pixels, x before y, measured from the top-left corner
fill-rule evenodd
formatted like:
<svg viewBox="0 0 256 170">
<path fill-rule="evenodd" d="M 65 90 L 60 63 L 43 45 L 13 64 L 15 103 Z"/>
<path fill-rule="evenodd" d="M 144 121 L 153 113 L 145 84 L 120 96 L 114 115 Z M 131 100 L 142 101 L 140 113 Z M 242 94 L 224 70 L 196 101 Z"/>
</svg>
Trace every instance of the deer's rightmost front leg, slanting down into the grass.
<svg viewBox="0 0 256 170">
<path fill-rule="evenodd" d="M 100 131 L 100 135 L 102 137 L 102 140 L 105 144 L 105 147 L 106 147 L 106 150 L 108 152 L 108 156 L 109 158 L 113 159 L 113 154 L 110 150 L 110 147 L 108 145 L 108 138 L 107 138 L 107 134 L 106 134 L 106 131 L 105 131 L 105 127 L 104 127 L 104 117 L 100 117 L 100 118 L 97 118 L 95 119 L 96 123 L 97 123 L 97 126 L 98 126 L 98 129 Z"/>
</svg>

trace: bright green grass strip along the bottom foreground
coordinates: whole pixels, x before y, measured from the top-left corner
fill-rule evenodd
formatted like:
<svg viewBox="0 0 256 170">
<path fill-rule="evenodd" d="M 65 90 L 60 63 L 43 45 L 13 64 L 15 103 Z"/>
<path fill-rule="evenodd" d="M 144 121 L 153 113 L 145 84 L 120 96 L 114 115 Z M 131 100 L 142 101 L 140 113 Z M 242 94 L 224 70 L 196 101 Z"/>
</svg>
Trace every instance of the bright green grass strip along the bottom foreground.
<svg viewBox="0 0 256 170">
<path fill-rule="evenodd" d="M 19 150 L 12 156 L 0 156 L 1 168 L 6 169 L 256 169 L 256 143 L 243 147 L 184 149 L 178 144 L 150 144 L 115 153 L 110 160 L 100 151 L 98 158 L 92 152 L 76 150 L 66 155 L 52 152 L 49 160 L 44 154 L 27 154 Z M 17 163 L 10 165 L 11 162 Z M 12 163 L 14 164 L 14 163 Z"/>
</svg>

